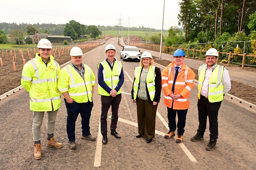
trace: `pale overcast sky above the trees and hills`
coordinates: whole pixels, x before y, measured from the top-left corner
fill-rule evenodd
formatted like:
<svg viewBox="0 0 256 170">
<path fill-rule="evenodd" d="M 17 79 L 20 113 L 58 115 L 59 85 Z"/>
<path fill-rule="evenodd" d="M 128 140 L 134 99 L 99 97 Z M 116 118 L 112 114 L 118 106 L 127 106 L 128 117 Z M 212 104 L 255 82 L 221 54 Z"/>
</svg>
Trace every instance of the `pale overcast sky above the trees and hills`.
<svg viewBox="0 0 256 170">
<path fill-rule="evenodd" d="M 164 29 L 178 26 L 180 0 L 165 0 Z M 5 0 L 0 4 L 0 22 L 150 27 L 161 29 L 163 0 Z"/>
</svg>

